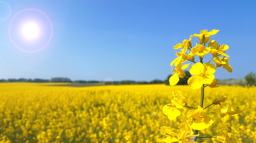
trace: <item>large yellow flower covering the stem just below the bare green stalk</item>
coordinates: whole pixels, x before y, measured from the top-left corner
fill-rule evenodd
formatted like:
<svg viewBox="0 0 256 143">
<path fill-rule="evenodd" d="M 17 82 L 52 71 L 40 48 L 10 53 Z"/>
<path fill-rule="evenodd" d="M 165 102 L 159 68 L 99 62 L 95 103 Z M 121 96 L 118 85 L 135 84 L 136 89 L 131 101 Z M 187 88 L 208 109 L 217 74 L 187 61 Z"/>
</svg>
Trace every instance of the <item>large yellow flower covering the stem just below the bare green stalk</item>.
<svg viewBox="0 0 256 143">
<path fill-rule="evenodd" d="M 194 119 L 194 122 L 191 125 L 191 128 L 194 130 L 204 130 L 207 129 L 214 120 L 208 117 L 204 112 L 201 106 L 197 106 L 198 109 L 193 109 L 187 112 L 186 117 L 191 117 Z"/>
</svg>

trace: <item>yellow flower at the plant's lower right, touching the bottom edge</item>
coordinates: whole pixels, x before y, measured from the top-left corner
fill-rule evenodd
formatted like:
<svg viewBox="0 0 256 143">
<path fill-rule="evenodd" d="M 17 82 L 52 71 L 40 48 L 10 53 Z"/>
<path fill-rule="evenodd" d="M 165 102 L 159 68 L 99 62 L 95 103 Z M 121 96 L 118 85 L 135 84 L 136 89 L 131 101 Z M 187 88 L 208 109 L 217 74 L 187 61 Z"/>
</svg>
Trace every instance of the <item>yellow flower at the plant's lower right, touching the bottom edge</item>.
<svg viewBox="0 0 256 143">
<path fill-rule="evenodd" d="M 220 130 L 221 135 L 217 135 L 217 140 L 222 143 L 237 143 L 237 138 L 232 133 L 229 133 L 226 128 Z"/>
</svg>

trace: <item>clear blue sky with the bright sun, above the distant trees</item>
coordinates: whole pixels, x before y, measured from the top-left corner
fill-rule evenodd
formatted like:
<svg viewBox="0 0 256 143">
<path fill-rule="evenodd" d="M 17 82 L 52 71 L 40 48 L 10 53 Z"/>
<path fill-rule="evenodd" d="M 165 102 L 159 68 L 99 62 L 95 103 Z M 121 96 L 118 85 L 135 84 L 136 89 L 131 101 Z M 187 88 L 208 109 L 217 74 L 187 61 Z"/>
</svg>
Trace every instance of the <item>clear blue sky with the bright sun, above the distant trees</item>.
<svg viewBox="0 0 256 143">
<path fill-rule="evenodd" d="M 165 80 L 173 46 L 204 29 L 229 46 L 233 72 L 215 78 L 244 78 L 256 72 L 255 25 L 252 0 L 0 0 L 0 79 Z"/>
</svg>

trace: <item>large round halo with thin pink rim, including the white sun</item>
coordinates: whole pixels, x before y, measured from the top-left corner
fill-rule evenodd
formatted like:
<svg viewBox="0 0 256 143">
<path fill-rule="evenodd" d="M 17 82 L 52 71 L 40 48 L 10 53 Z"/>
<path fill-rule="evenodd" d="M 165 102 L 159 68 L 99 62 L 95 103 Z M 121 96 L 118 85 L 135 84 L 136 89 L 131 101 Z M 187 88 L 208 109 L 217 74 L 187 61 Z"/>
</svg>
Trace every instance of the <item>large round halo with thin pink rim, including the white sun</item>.
<svg viewBox="0 0 256 143">
<path fill-rule="evenodd" d="M 34 53 L 43 50 L 52 37 L 53 24 L 41 10 L 23 9 L 10 21 L 9 38 L 12 44 L 23 52 Z"/>
</svg>

